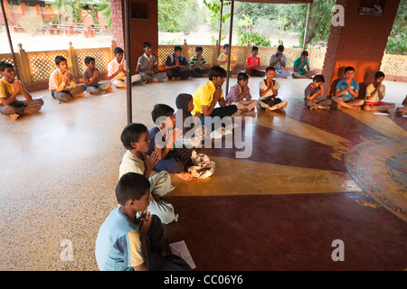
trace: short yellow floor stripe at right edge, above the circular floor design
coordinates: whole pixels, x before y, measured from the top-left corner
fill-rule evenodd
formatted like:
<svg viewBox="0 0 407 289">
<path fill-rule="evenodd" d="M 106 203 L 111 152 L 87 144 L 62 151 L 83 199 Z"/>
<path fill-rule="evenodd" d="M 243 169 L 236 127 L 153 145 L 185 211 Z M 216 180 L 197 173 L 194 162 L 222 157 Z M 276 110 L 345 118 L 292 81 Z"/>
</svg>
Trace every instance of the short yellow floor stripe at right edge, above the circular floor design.
<svg viewBox="0 0 407 289">
<path fill-rule="evenodd" d="M 366 126 L 370 126 L 375 130 L 381 132 L 383 135 L 390 137 L 406 137 L 407 132 L 393 122 L 393 120 L 388 116 L 374 115 L 371 111 L 365 110 L 353 110 L 349 108 L 340 108 L 343 112 L 351 117 L 364 123 Z"/>
</svg>

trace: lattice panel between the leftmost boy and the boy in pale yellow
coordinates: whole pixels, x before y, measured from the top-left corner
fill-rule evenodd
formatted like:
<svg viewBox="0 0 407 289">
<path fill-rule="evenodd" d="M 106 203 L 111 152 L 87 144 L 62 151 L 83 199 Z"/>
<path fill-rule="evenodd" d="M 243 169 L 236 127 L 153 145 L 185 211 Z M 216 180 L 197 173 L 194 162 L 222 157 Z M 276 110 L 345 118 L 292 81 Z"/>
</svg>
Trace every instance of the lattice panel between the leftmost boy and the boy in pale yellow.
<svg viewBox="0 0 407 289">
<path fill-rule="evenodd" d="M 68 51 L 27 52 L 32 82 L 49 79 L 51 72 L 56 70 L 55 57 L 57 55 L 62 55 L 67 60 L 69 59 Z"/>
</svg>

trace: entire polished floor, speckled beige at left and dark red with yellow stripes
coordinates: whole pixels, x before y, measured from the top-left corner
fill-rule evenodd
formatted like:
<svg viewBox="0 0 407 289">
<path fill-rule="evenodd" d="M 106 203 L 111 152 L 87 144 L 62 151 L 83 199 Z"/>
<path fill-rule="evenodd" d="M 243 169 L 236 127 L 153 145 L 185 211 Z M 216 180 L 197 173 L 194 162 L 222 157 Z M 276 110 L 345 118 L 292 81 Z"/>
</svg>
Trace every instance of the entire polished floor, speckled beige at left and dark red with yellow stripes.
<svg viewBox="0 0 407 289">
<path fill-rule="evenodd" d="M 151 128 L 156 103 L 175 107 L 204 81 L 133 87 L 133 121 Z M 250 80 L 255 98 L 259 81 Z M 165 226 L 166 241 L 185 240 L 196 270 L 407 268 L 407 119 L 394 109 L 308 111 L 309 80 L 279 82 L 284 114 L 242 116 L 250 157 L 236 158 L 235 146 L 203 148 L 216 163 L 211 177 L 173 177 L 166 200 L 179 220 Z M 407 83 L 384 84 L 385 100 L 401 106 Z M 99 225 L 117 206 L 126 89 L 63 104 L 33 92 L 41 95 L 40 113 L 0 116 L 0 270 L 98 270 Z M 336 239 L 345 261 L 331 257 Z"/>
</svg>

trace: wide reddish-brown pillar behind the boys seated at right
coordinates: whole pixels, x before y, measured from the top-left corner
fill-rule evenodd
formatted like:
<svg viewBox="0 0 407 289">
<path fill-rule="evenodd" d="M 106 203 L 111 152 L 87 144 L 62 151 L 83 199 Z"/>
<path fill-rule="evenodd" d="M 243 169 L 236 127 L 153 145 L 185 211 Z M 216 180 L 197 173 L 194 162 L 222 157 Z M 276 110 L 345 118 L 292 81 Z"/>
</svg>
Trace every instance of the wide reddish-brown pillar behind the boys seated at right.
<svg viewBox="0 0 407 289">
<path fill-rule="evenodd" d="M 345 8 L 345 25 L 332 25 L 327 42 L 322 74 L 328 98 L 335 93 L 337 81 L 344 78 L 345 67 L 355 67 L 354 79 L 360 85 L 359 98 L 364 98 L 366 86 L 374 80 L 374 72 L 380 70 L 400 0 L 380 0 L 382 15 L 358 13 L 359 7 L 374 7 L 376 4 L 376 0 L 336 0 L 336 5 Z"/>
</svg>

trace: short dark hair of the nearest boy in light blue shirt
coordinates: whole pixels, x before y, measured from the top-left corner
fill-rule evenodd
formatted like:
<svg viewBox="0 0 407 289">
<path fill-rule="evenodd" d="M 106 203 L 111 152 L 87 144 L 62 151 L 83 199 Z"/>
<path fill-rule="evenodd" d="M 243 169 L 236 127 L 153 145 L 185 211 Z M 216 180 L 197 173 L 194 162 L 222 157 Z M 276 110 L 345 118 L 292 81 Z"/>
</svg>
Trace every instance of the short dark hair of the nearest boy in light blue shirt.
<svg viewBox="0 0 407 289">
<path fill-rule="evenodd" d="M 122 206 L 128 200 L 140 200 L 150 188 L 148 179 L 139 173 L 128 172 L 121 176 L 116 186 L 116 199 Z"/>
</svg>

